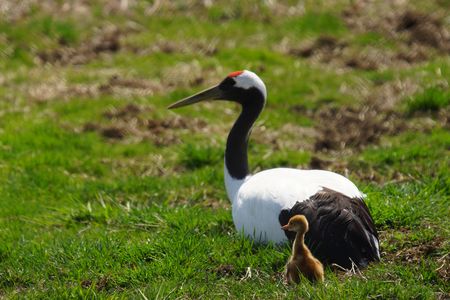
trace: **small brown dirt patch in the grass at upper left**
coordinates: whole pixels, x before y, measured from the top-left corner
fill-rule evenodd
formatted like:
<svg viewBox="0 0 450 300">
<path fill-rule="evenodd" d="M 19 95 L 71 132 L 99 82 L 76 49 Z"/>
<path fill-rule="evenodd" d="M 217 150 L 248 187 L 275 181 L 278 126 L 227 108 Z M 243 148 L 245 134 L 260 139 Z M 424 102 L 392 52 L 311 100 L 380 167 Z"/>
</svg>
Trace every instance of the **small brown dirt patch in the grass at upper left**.
<svg viewBox="0 0 450 300">
<path fill-rule="evenodd" d="M 61 47 L 38 53 L 42 63 L 50 64 L 85 64 L 104 53 L 114 53 L 121 49 L 120 38 L 124 31 L 114 25 L 98 29 L 89 40 L 78 47 Z"/>
</svg>

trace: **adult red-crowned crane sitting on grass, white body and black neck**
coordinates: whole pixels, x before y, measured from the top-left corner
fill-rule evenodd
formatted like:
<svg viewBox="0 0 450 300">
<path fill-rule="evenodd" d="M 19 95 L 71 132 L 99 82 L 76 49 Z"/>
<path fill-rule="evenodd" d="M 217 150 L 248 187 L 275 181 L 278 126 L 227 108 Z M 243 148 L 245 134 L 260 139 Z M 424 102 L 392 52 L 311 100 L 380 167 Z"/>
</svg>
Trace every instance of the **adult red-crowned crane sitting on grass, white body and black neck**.
<svg viewBox="0 0 450 300">
<path fill-rule="evenodd" d="M 264 82 L 253 72 L 230 73 L 221 83 L 173 103 L 177 108 L 204 100 L 242 106 L 225 150 L 225 187 L 236 230 L 257 242 L 280 244 L 295 238 L 281 226 L 297 214 L 310 230 L 305 242 L 324 264 L 365 267 L 380 259 L 378 234 L 364 194 L 349 179 L 324 170 L 275 168 L 250 174 L 247 145 L 251 128 L 266 104 Z M 281 226 L 280 226 L 281 225 Z"/>
</svg>

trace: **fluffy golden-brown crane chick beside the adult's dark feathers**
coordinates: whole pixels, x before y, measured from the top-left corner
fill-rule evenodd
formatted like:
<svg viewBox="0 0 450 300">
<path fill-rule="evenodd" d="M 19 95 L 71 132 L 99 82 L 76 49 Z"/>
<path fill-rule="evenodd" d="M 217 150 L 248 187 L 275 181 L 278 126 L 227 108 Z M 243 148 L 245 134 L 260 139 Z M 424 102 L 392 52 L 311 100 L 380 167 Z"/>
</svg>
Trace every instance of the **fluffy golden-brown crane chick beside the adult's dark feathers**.
<svg viewBox="0 0 450 300">
<path fill-rule="evenodd" d="M 312 282 L 323 282 L 322 263 L 312 255 L 304 242 L 305 233 L 308 232 L 308 221 L 305 216 L 295 215 L 281 228 L 297 232 L 292 246 L 292 255 L 286 264 L 286 281 L 299 283 L 301 273 Z"/>
</svg>

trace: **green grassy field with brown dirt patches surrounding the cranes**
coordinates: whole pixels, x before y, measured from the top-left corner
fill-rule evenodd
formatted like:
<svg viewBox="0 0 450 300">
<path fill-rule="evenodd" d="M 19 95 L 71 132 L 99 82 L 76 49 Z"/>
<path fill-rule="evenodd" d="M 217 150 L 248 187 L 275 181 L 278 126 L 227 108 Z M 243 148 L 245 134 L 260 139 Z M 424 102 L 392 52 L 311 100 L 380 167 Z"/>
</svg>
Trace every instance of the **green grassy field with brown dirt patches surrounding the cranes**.
<svg viewBox="0 0 450 300">
<path fill-rule="evenodd" d="M 450 297 L 450 2 L 392 2 L 2 1 L 0 298 Z M 351 178 L 380 263 L 286 286 L 235 232 L 239 107 L 166 107 L 240 69 L 252 170 Z"/>
</svg>

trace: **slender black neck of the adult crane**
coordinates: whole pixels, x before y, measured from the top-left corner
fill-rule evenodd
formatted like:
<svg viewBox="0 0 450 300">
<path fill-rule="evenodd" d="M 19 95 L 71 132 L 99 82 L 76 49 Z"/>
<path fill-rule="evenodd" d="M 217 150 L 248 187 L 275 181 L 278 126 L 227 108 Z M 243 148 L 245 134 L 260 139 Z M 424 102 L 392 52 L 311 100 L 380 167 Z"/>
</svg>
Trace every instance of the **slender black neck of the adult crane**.
<svg viewBox="0 0 450 300">
<path fill-rule="evenodd" d="M 247 147 L 250 131 L 264 108 L 265 98 L 257 89 L 246 91 L 245 101 L 237 101 L 242 111 L 231 128 L 225 150 L 225 166 L 231 177 L 244 179 L 249 174 Z"/>
</svg>

